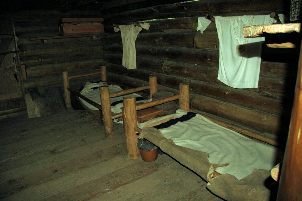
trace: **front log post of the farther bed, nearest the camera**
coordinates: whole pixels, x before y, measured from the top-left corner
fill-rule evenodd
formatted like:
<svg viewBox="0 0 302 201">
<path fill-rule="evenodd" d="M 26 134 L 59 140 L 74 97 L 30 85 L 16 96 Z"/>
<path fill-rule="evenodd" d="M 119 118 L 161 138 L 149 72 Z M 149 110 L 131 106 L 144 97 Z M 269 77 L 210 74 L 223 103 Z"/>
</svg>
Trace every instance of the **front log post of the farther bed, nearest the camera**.
<svg viewBox="0 0 302 201">
<path fill-rule="evenodd" d="M 114 137 L 114 128 L 112 122 L 109 86 L 100 86 L 101 105 L 102 105 L 102 116 L 105 128 L 106 137 Z"/>
</svg>

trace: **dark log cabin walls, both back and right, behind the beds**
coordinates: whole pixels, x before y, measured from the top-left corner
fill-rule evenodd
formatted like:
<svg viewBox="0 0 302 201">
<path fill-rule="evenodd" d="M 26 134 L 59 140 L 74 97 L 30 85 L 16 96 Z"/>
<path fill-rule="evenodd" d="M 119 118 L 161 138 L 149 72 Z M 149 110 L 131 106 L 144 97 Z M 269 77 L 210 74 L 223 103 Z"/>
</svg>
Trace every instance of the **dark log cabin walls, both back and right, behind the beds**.
<svg viewBox="0 0 302 201">
<path fill-rule="evenodd" d="M 196 27 L 198 17 L 206 14 L 262 15 L 275 11 L 288 15 L 288 1 L 202 0 L 182 2 L 181 6 L 173 0 L 165 1 L 164 5 L 162 1 L 130 2 L 133 3 L 125 5 L 124 1 L 108 1 L 101 10 L 97 8 L 98 11 L 94 8 L 2 14 L 2 21 L 13 18 L 18 47 L 26 51 L 20 53 L 21 64 L 27 73 L 24 88 L 61 84 L 62 71 L 71 74 L 91 72 L 105 64 L 108 80 L 124 88 L 144 85 L 151 75 L 158 77 L 160 91 L 176 94 L 179 83 L 189 83 L 192 109 L 269 139 L 286 141 L 298 49 L 269 49 L 264 45 L 259 87 L 235 89 L 217 80 L 219 40 L 215 24 L 211 23 L 203 34 L 196 31 Z M 108 35 L 51 39 L 51 36 L 59 35 L 58 23 L 62 17 L 103 17 Z M 115 33 L 112 24 L 142 21 L 151 26 L 149 30 L 143 29 L 136 39 L 137 69 L 127 70 L 121 65 L 120 32 Z M 5 76 L 14 80 L 14 74 Z M 84 79 L 88 81 L 97 77 Z M 84 80 L 73 81 L 76 84 Z M 1 82 L 3 86 L 6 81 Z M 5 85 L 5 89 L 0 99 L 4 105 L 0 108 L 3 114 L 11 109 L 26 108 L 20 89 L 14 92 L 14 96 L 9 86 Z"/>
</svg>

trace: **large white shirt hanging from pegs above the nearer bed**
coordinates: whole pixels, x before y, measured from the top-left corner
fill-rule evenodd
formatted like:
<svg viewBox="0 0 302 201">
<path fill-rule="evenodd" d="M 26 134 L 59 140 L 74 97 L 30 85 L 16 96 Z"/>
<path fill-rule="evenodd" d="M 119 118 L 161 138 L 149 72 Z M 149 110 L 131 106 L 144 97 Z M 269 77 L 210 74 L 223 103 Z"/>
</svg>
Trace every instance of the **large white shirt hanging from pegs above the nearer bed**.
<svg viewBox="0 0 302 201">
<path fill-rule="evenodd" d="M 233 88 L 257 88 L 265 38 L 244 38 L 242 28 L 275 22 L 269 15 L 215 16 L 219 38 L 217 79 Z"/>
</svg>

